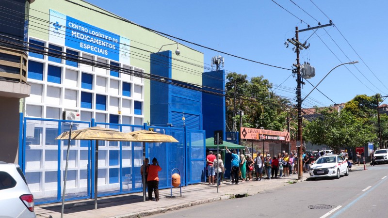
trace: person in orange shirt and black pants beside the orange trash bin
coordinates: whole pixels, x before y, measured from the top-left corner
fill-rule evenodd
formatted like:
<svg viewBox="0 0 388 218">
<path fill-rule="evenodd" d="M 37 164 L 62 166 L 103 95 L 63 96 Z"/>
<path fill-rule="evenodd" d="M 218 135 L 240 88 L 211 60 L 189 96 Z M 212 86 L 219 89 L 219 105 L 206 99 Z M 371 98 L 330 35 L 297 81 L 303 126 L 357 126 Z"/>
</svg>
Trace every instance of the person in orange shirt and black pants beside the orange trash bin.
<svg viewBox="0 0 388 218">
<path fill-rule="evenodd" d="M 148 166 L 147 169 L 147 185 L 148 185 L 148 201 L 152 201 L 152 191 L 155 192 L 155 201 L 159 202 L 159 175 L 158 172 L 162 168 L 159 166 L 159 162 L 154 157 L 152 159 L 152 165 Z"/>
</svg>

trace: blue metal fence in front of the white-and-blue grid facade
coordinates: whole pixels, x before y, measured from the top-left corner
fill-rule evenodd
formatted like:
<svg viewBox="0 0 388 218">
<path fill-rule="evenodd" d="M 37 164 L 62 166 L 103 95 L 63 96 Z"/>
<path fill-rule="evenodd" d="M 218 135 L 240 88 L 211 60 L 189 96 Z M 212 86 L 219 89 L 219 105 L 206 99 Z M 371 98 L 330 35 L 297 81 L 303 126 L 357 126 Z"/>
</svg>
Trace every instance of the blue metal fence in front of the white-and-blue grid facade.
<svg viewBox="0 0 388 218">
<path fill-rule="evenodd" d="M 70 121 L 21 119 L 22 140 L 19 165 L 26 175 L 36 204 L 61 202 L 65 174 L 67 140 L 55 140 L 68 131 Z M 147 125 L 121 125 L 74 121 L 73 130 L 101 126 L 132 132 Z M 171 135 L 179 142 L 146 143 L 146 157 L 158 158 L 160 188 L 170 187 L 171 170 L 178 168 L 182 185 L 200 182 L 205 169 L 205 131 L 152 126 L 155 132 Z M 140 167 L 143 164 L 141 142 L 99 141 L 98 197 L 142 191 Z M 72 140 L 65 200 L 94 198 L 95 141 Z"/>
</svg>

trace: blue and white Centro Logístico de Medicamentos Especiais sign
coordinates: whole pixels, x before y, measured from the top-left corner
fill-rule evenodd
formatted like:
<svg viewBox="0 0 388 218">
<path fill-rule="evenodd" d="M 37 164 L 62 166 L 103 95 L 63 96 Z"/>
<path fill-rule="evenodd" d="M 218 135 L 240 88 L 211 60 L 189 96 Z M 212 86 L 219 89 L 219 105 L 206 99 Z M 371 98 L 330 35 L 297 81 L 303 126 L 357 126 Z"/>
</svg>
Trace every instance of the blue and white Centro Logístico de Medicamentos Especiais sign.
<svg viewBox="0 0 388 218">
<path fill-rule="evenodd" d="M 49 41 L 129 64 L 129 39 L 50 9 Z"/>
</svg>

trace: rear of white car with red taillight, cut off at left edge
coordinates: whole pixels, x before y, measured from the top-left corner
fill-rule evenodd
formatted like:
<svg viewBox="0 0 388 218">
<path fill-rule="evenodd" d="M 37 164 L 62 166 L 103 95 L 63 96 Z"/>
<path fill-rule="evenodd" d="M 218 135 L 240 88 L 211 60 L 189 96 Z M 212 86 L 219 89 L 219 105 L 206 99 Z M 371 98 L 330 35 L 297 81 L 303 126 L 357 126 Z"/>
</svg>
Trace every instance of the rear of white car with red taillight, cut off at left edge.
<svg viewBox="0 0 388 218">
<path fill-rule="evenodd" d="M 0 161 L 0 217 L 36 218 L 34 202 L 19 165 Z"/>
</svg>

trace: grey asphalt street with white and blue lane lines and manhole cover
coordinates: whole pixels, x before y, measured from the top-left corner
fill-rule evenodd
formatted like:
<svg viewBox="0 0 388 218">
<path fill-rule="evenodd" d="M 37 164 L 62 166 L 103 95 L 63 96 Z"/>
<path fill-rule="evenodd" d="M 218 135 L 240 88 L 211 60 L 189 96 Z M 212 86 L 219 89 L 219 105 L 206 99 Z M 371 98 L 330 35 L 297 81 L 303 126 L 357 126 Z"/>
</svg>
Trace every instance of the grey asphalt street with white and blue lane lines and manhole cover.
<svg viewBox="0 0 388 218">
<path fill-rule="evenodd" d="M 360 166 L 361 167 L 361 166 Z M 340 179 L 318 179 L 154 217 L 386 217 L 388 165 L 359 168 Z M 307 175 L 305 173 L 305 175 Z M 309 209 L 324 205 L 327 209 Z"/>
</svg>

